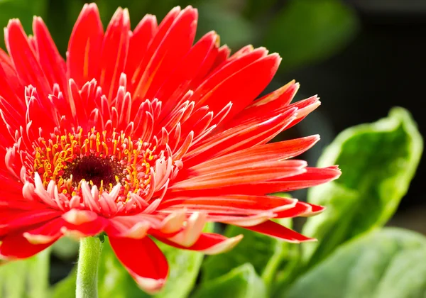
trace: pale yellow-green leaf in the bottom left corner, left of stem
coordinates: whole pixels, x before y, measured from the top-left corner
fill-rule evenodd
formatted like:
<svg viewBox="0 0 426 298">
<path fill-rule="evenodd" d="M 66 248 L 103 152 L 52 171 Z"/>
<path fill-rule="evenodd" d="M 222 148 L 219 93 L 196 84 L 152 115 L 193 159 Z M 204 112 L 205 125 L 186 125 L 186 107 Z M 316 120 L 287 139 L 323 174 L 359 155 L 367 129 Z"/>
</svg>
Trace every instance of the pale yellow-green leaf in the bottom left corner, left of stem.
<svg viewBox="0 0 426 298">
<path fill-rule="evenodd" d="M 0 266 L 0 298 L 45 298 L 48 295 L 50 250 Z"/>
</svg>

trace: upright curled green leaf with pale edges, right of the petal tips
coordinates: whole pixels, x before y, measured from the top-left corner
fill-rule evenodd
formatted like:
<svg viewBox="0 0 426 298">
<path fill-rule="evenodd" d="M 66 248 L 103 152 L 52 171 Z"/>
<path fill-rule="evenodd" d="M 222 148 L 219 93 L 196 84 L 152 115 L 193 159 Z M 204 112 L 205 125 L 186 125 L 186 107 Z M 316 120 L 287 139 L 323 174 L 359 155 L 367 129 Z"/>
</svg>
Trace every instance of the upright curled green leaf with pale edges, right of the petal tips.
<svg viewBox="0 0 426 298">
<path fill-rule="evenodd" d="M 387 118 L 342 132 L 324 151 L 319 166 L 339 165 L 342 177 L 310 189 L 308 201 L 326 206 L 307 220 L 303 233 L 310 265 L 361 233 L 383 226 L 407 192 L 422 154 L 422 137 L 408 111 L 394 108 Z"/>
</svg>

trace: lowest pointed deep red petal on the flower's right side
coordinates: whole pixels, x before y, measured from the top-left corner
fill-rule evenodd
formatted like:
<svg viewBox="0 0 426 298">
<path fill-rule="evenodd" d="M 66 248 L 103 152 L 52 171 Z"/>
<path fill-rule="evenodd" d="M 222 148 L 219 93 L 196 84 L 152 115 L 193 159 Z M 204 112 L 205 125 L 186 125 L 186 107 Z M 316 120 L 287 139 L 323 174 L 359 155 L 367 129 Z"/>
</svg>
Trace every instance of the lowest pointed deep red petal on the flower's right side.
<svg viewBox="0 0 426 298">
<path fill-rule="evenodd" d="M 275 238 L 283 239 L 284 241 L 290 243 L 317 241 L 314 238 L 308 238 L 300 233 L 290 230 L 290 228 L 281 226 L 279 223 L 275 223 L 274 221 L 265 221 L 264 223 L 258 224 L 256 226 L 244 226 L 244 228 L 258 233 L 263 233 L 268 236 L 273 236 Z"/>
</svg>

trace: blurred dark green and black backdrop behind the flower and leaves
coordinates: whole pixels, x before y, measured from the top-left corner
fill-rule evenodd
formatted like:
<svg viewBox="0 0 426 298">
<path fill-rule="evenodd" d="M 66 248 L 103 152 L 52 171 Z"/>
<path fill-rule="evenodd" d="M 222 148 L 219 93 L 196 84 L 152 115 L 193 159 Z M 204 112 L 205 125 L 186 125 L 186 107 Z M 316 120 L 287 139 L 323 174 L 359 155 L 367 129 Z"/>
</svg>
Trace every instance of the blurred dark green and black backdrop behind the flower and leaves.
<svg viewBox="0 0 426 298">
<path fill-rule="evenodd" d="M 420 88 L 426 59 L 426 1 L 418 0 L 99 0 L 107 26 L 117 6 L 129 8 L 132 27 L 146 14 L 160 21 L 173 6 L 199 9 L 198 36 L 214 30 L 235 52 L 244 45 L 265 46 L 283 61 L 266 92 L 290 79 L 301 83 L 297 99 L 320 94 L 322 106 L 280 138 L 320 133 L 322 142 L 303 158 L 315 164 L 322 149 L 339 131 L 386 116 L 392 106 L 413 113 L 425 131 Z M 72 26 L 85 1 L 0 0 L 0 24 L 20 18 L 31 33 L 33 15 L 47 23 L 65 56 Z M 1 33 L 2 34 L 2 33 Z M 3 40 L 1 36 L 0 40 Z M 4 43 L 1 41 L 1 47 Z M 420 163 L 408 195 L 391 225 L 426 233 Z M 304 199 L 305 192 L 295 195 Z M 74 252 L 70 243 L 70 252 Z M 65 252 L 66 254 L 66 252 Z M 66 258 L 65 258 L 66 259 Z M 53 262 L 53 281 L 67 274 L 70 262 Z M 65 265 L 66 264 L 66 265 Z"/>
</svg>

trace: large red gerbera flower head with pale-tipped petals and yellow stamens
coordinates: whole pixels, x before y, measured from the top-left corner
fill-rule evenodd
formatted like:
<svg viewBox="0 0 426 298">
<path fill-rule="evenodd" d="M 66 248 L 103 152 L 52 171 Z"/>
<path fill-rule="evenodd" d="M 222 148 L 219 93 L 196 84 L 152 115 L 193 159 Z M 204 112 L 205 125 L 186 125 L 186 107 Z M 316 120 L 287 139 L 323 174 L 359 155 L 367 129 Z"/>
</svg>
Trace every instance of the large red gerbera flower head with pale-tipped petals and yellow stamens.
<svg viewBox="0 0 426 298">
<path fill-rule="evenodd" d="M 256 99 L 280 57 L 251 46 L 229 56 L 214 32 L 193 45 L 196 27 L 190 6 L 159 26 L 147 15 L 134 31 L 118 9 L 104 32 L 97 6 L 85 5 L 65 62 L 41 18 L 33 36 L 9 22 L 9 55 L 0 50 L 2 257 L 105 232 L 138 285 L 153 292 L 168 264 L 148 235 L 210 254 L 241 237 L 202 233 L 207 221 L 310 240 L 270 219 L 323 208 L 266 194 L 340 172 L 289 160 L 318 136 L 268 141 L 320 101 L 290 104 L 295 82 Z"/>
</svg>

